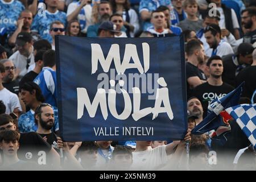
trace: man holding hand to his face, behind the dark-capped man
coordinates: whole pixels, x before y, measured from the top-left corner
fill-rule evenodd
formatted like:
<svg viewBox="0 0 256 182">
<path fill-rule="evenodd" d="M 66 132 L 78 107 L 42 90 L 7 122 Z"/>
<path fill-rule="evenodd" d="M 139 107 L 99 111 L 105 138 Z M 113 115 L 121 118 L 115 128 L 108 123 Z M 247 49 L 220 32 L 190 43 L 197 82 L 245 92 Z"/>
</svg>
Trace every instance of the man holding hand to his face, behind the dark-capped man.
<svg viewBox="0 0 256 182">
<path fill-rule="evenodd" d="M 17 21 L 17 28 L 13 35 L 10 36 L 8 42 L 10 46 L 15 46 L 16 38 L 20 32 L 28 32 L 32 36 L 33 42 L 38 41 L 40 36 L 30 30 L 33 21 L 33 15 L 30 10 L 24 10 L 19 16 Z"/>
</svg>

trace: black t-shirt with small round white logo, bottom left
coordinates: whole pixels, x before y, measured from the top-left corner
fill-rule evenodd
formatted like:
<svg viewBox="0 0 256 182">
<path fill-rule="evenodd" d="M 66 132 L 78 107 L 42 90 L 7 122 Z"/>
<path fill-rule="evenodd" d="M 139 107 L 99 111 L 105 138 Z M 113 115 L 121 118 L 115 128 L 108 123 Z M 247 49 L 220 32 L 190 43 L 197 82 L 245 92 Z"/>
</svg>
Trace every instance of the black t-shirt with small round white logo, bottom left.
<svg viewBox="0 0 256 182">
<path fill-rule="evenodd" d="M 37 161 L 40 151 L 46 153 L 51 150 L 51 145 L 35 132 L 20 133 L 18 158 L 21 160 Z"/>
</svg>

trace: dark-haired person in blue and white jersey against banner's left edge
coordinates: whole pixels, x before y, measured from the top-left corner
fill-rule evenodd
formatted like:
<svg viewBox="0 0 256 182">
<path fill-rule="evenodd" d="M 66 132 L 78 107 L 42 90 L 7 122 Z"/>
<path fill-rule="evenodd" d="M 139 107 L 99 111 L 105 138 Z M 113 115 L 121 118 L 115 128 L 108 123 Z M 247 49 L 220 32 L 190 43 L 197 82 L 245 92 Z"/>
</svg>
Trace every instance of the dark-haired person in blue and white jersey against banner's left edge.
<svg viewBox="0 0 256 182">
<path fill-rule="evenodd" d="M 56 60 L 55 51 L 48 50 L 43 55 L 43 69 L 34 82 L 42 90 L 46 103 L 57 107 Z"/>
</svg>

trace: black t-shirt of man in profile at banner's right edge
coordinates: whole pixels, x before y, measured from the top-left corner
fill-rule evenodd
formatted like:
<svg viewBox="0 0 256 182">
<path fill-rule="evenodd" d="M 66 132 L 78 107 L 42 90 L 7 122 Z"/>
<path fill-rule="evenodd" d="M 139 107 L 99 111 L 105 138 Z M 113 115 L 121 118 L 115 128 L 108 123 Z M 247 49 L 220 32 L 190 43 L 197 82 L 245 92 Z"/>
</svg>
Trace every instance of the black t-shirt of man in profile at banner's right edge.
<svg viewBox="0 0 256 182">
<path fill-rule="evenodd" d="M 191 97 L 192 90 L 188 84 L 188 78 L 198 76 L 200 80 L 206 80 L 204 73 L 198 69 L 195 65 L 187 62 L 186 63 L 186 79 L 187 79 L 187 98 Z"/>
</svg>

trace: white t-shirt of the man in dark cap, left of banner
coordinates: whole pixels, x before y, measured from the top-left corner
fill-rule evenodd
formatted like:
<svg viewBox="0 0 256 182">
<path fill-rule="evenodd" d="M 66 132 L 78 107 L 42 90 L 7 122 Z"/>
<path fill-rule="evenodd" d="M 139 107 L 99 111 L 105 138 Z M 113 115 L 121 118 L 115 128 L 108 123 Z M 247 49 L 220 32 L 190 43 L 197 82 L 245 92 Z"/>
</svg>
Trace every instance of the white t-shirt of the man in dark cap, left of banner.
<svg viewBox="0 0 256 182">
<path fill-rule="evenodd" d="M 30 63 L 28 63 L 28 65 L 32 65 L 35 63 L 33 52 L 34 47 L 32 46 L 31 54 L 28 57 L 21 55 L 19 51 L 14 52 L 13 55 L 9 57 L 9 60 L 12 60 L 15 67 L 19 69 L 20 76 L 24 76 L 27 73 L 27 59 L 30 59 Z"/>
</svg>

